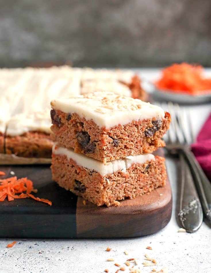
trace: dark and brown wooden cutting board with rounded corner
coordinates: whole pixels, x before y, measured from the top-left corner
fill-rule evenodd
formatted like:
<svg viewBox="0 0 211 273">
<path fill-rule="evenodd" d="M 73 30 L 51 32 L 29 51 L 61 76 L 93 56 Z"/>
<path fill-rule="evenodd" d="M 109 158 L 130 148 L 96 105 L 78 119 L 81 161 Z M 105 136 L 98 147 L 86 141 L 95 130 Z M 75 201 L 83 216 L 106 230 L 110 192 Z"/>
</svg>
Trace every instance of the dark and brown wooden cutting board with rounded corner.
<svg viewBox="0 0 211 273">
<path fill-rule="evenodd" d="M 162 151 L 159 152 L 162 153 Z M 163 153 L 162 153 L 163 155 Z M 1 166 L 28 177 L 38 189 L 37 197 L 52 201 L 52 206 L 33 199 L 0 202 L 0 237 L 14 238 L 126 238 L 157 232 L 168 224 L 172 193 L 166 186 L 136 199 L 120 201 L 118 207 L 97 207 L 60 188 L 51 180 L 50 165 Z"/>
</svg>

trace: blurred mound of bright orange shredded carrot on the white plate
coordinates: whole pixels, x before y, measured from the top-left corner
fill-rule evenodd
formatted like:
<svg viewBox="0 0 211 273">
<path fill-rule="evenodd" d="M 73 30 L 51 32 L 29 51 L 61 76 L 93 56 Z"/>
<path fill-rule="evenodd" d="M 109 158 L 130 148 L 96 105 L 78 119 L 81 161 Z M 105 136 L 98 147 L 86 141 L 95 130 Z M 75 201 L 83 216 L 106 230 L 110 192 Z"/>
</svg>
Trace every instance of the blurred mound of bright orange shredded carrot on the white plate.
<svg viewBox="0 0 211 273">
<path fill-rule="evenodd" d="M 155 85 L 163 91 L 168 89 L 189 95 L 211 92 L 211 79 L 204 78 L 202 74 L 203 67 L 200 65 L 172 64 L 162 70 L 162 77 Z"/>
</svg>

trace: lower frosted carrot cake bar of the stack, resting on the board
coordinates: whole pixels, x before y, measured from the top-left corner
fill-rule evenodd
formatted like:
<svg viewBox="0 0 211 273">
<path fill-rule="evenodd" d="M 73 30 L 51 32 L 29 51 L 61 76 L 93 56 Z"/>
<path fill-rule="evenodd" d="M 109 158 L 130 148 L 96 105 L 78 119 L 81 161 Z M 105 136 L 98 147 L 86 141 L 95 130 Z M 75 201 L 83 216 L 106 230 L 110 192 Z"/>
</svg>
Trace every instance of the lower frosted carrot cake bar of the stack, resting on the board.
<svg viewBox="0 0 211 273">
<path fill-rule="evenodd" d="M 102 162 L 53 146 L 52 176 L 61 187 L 101 206 L 119 205 L 164 186 L 165 159 L 149 153 Z"/>
</svg>

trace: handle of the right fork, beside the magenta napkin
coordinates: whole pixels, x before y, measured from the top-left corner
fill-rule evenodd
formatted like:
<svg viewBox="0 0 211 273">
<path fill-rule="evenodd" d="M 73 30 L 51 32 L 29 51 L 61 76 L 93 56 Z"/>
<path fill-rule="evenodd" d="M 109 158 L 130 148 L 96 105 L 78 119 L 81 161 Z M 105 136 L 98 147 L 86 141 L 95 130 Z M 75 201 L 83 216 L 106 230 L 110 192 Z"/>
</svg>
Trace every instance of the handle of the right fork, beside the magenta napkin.
<svg viewBox="0 0 211 273">
<path fill-rule="evenodd" d="M 211 224 L 211 183 L 191 150 L 183 149 L 182 151 L 191 167 L 204 216 L 208 220 L 209 224 Z"/>
</svg>

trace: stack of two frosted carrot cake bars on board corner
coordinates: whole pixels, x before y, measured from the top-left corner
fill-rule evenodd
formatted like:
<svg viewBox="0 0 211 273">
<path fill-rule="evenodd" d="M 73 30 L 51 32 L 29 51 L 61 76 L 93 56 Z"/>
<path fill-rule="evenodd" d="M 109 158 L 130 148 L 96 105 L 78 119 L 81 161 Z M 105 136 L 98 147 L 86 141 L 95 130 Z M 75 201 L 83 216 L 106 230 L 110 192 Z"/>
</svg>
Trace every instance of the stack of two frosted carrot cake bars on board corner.
<svg viewBox="0 0 211 273">
<path fill-rule="evenodd" d="M 52 175 L 61 187 L 100 205 L 118 205 L 163 186 L 170 115 L 139 99 L 95 92 L 51 101 Z"/>
</svg>

